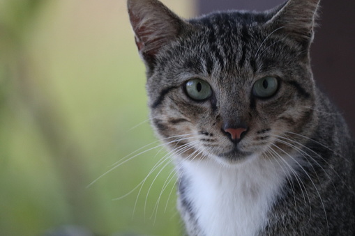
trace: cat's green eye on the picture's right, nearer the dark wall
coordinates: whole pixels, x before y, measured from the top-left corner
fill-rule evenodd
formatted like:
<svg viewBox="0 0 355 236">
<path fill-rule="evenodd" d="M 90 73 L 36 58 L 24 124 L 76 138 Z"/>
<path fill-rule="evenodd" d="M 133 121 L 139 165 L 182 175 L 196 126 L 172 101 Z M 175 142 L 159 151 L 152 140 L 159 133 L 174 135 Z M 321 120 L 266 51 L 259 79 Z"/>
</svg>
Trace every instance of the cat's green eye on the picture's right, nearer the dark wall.
<svg viewBox="0 0 355 236">
<path fill-rule="evenodd" d="M 256 97 L 271 97 L 278 90 L 278 80 L 275 77 L 258 79 L 252 87 L 252 93 Z"/>
</svg>

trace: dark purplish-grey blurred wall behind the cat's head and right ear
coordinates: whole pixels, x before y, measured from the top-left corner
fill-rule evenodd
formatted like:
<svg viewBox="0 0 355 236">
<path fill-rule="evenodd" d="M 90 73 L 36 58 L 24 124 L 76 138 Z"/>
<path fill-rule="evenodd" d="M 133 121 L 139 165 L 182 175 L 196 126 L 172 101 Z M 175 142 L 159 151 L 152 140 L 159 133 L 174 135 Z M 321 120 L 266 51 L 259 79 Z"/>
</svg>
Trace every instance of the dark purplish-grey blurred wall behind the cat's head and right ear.
<svg viewBox="0 0 355 236">
<path fill-rule="evenodd" d="M 266 10 L 282 0 L 197 0 L 199 14 L 213 10 Z M 312 69 L 317 85 L 344 114 L 355 135 L 355 1 L 321 1 Z"/>
</svg>

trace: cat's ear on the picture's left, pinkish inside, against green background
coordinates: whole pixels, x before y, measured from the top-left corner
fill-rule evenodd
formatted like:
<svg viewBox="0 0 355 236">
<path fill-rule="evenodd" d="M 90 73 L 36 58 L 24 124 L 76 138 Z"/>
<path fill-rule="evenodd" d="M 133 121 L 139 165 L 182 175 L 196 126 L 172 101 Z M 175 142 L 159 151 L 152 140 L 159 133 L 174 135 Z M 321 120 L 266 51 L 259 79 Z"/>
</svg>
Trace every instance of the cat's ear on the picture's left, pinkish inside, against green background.
<svg viewBox="0 0 355 236">
<path fill-rule="evenodd" d="M 186 23 L 158 0 L 128 0 L 127 6 L 139 54 L 152 70 L 160 48 L 176 39 Z"/>
</svg>

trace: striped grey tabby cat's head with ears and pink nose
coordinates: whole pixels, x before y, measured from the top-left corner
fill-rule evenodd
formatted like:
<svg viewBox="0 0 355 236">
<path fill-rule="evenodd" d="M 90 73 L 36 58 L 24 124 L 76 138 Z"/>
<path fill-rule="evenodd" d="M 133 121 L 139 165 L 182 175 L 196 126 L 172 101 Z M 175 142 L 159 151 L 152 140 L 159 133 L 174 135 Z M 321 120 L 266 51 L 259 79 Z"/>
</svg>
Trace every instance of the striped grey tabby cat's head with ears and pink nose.
<svg viewBox="0 0 355 236">
<path fill-rule="evenodd" d="M 309 49 L 318 2 L 183 20 L 157 0 L 128 0 L 158 135 L 183 158 L 283 155 L 285 140 L 316 120 Z"/>
</svg>

